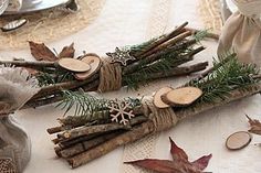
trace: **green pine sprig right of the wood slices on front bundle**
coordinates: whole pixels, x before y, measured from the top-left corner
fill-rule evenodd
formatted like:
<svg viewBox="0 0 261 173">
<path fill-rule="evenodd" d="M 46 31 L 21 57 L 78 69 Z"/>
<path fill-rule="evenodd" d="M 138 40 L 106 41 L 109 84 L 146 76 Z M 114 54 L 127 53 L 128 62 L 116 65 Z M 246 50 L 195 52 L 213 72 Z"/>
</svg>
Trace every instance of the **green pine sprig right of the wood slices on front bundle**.
<svg viewBox="0 0 261 173">
<path fill-rule="evenodd" d="M 252 64 L 238 62 L 237 54 L 219 57 L 220 62 L 213 61 L 213 71 L 202 79 L 194 79 L 188 85 L 198 87 L 203 91 L 201 98 L 196 102 L 215 102 L 230 96 L 234 89 L 246 89 L 257 84 L 254 78 L 259 68 Z"/>
</svg>

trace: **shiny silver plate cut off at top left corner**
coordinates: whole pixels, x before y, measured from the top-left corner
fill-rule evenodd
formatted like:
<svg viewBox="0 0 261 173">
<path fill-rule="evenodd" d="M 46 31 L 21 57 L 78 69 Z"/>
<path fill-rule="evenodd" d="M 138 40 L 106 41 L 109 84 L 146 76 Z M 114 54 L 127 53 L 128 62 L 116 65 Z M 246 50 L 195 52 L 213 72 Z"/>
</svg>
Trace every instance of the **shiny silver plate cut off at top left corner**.
<svg viewBox="0 0 261 173">
<path fill-rule="evenodd" d="M 65 6 L 71 0 L 23 0 L 22 8 L 19 11 L 11 12 L 6 11 L 4 14 L 22 14 L 36 12 L 41 10 L 46 10 L 51 8 L 55 8 L 59 6 Z"/>
</svg>

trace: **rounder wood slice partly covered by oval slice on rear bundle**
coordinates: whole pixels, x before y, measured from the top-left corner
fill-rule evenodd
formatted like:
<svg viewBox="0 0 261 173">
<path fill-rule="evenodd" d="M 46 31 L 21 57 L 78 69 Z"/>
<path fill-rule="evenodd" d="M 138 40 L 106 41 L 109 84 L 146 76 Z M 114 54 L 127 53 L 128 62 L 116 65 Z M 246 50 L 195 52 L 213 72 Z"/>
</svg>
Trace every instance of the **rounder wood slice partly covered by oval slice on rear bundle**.
<svg viewBox="0 0 261 173">
<path fill-rule="evenodd" d="M 76 73 L 74 76 L 79 80 L 85 80 L 86 78 L 91 77 L 101 68 L 102 65 L 102 60 L 96 55 L 86 55 L 82 58 L 82 62 L 88 64 L 91 69 L 84 73 Z"/>
</svg>

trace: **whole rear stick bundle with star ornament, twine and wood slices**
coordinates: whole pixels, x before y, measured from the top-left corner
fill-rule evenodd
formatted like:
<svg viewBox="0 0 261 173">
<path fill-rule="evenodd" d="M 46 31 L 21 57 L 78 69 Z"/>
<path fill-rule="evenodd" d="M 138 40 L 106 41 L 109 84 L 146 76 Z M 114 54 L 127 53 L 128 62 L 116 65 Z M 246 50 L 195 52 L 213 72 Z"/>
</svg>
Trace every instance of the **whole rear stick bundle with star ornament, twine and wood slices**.
<svg viewBox="0 0 261 173">
<path fill-rule="evenodd" d="M 107 53 L 108 57 L 100 58 L 96 54 L 84 54 L 71 61 L 61 54 L 55 61 L 27 62 L 21 60 L 0 61 L 0 64 L 10 64 L 25 68 L 36 69 L 35 74 L 44 82 L 41 90 L 31 98 L 23 108 L 39 107 L 61 101 L 63 90 L 108 91 L 117 90 L 123 86 L 137 88 L 150 80 L 188 75 L 206 69 L 208 62 L 181 66 L 194 60 L 194 56 L 205 47 L 197 43 L 203 37 L 217 39 L 215 34 L 186 28 L 188 22 L 177 26 L 173 32 L 152 39 L 143 44 L 116 48 Z M 35 48 L 35 47 L 34 47 Z M 45 47 L 44 47 L 45 48 Z M 46 48 L 45 48 L 46 50 Z M 44 50 L 44 51 L 45 51 Z M 32 51 L 32 47 L 31 47 Z M 40 52 L 40 53 L 39 53 Z M 49 54 L 44 56 L 49 60 Z M 51 53 L 52 55 L 52 53 Z M 90 65 L 88 72 L 75 71 L 72 60 L 79 60 Z M 86 65 L 83 67 L 86 67 Z M 60 78 L 58 80 L 58 78 Z M 50 83 L 48 83 L 50 82 Z"/>
</svg>

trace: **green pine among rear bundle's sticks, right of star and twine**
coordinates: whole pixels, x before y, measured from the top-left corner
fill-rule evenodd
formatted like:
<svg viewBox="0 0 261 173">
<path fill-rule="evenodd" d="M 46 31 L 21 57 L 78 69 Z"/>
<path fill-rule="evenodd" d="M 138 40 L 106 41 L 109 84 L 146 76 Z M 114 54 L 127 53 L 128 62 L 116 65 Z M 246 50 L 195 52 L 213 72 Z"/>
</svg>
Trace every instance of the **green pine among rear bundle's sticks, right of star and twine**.
<svg viewBox="0 0 261 173">
<path fill-rule="evenodd" d="M 148 84 L 148 79 L 150 78 L 153 73 L 165 73 L 173 69 L 174 67 L 179 66 L 180 64 L 185 64 L 191 61 L 192 57 L 186 57 L 185 55 L 191 53 L 194 51 L 192 47 L 197 43 L 200 43 L 200 41 L 202 41 L 205 37 L 207 37 L 207 35 L 208 30 L 198 31 L 191 36 L 192 39 L 190 41 L 195 40 L 195 42 L 192 42 L 194 44 L 190 44 L 190 41 L 182 41 L 180 43 L 177 43 L 171 47 L 168 47 L 163 52 L 158 53 L 158 61 L 154 63 L 147 64 L 146 60 L 140 60 L 136 73 L 124 76 L 124 83 L 127 85 L 128 88 L 136 90 L 139 88 L 139 86 L 146 86 Z M 130 46 L 130 50 L 142 50 L 143 47 L 152 44 L 157 39 L 153 39 L 140 45 Z"/>
</svg>

